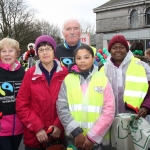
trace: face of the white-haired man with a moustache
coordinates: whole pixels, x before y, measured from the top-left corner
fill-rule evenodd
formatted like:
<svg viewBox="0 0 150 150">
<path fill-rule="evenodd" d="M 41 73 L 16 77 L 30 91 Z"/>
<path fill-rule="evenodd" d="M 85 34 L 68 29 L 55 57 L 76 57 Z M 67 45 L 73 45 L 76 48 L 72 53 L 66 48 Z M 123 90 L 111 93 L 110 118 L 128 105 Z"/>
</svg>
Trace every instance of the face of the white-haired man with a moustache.
<svg viewBox="0 0 150 150">
<path fill-rule="evenodd" d="M 77 20 L 67 21 L 64 24 L 62 34 L 69 46 L 77 45 L 81 35 L 79 22 Z"/>
</svg>

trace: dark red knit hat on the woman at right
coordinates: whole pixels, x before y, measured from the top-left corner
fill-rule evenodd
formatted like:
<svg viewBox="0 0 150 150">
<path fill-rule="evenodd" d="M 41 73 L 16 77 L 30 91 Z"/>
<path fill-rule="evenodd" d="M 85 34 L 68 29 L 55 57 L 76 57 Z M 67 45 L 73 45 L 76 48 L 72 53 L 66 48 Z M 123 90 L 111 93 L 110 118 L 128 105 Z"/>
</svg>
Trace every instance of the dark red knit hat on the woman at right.
<svg viewBox="0 0 150 150">
<path fill-rule="evenodd" d="M 115 43 L 121 43 L 121 44 L 123 44 L 126 47 L 127 52 L 129 51 L 129 45 L 128 45 L 127 40 L 125 39 L 125 37 L 123 35 L 115 35 L 115 36 L 112 37 L 112 39 L 110 40 L 110 42 L 108 44 L 108 51 L 109 52 L 111 50 L 111 47 Z"/>
</svg>

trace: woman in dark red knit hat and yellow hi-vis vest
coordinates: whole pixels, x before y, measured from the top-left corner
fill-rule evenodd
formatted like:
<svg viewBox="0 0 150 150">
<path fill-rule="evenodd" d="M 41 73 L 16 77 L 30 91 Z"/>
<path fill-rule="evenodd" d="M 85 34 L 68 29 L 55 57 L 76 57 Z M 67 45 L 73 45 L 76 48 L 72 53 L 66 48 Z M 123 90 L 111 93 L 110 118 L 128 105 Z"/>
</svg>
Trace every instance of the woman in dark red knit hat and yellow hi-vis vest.
<svg viewBox="0 0 150 150">
<path fill-rule="evenodd" d="M 108 51 L 111 55 L 107 58 L 100 72 L 105 72 L 112 85 L 115 95 L 116 116 L 118 117 L 120 114 L 129 114 L 129 116 L 137 114 L 134 116 L 136 116 L 135 122 L 138 124 L 139 120 L 137 119 L 146 117 L 150 112 L 150 67 L 133 56 L 129 50 L 127 40 L 122 35 L 112 37 L 108 44 Z M 148 117 L 146 119 L 148 120 Z M 128 123 L 127 125 L 130 126 L 130 122 Z M 114 136 L 116 139 L 114 137 L 111 138 L 112 146 L 117 148 L 117 150 L 128 149 L 127 146 L 131 145 L 129 145 L 128 141 L 133 139 L 132 144 L 134 143 L 135 132 L 132 132 L 132 134 L 131 131 L 128 131 L 132 138 L 125 140 L 126 138 L 120 136 L 117 124 L 116 126 L 116 132 L 112 128 L 114 135 L 116 135 Z M 127 135 L 125 137 L 128 137 Z M 140 136 L 137 136 L 137 138 L 140 139 Z M 125 147 L 123 144 L 120 144 L 123 140 L 125 141 Z M 138 144 L 140 145 L 140 143 Z"/>
</svg>

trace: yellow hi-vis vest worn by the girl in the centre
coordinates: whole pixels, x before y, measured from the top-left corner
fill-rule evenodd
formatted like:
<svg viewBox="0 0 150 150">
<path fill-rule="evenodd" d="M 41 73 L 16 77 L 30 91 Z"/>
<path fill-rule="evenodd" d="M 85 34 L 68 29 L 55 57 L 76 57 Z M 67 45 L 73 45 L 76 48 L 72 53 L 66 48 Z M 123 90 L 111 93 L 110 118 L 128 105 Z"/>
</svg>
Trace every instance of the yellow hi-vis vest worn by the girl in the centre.
<svg viewBox="0 0 150 150">
<path fill-rule="evenodd" d="M 82 95 L 78 75 L 69 74 L 65 78 L 70 112 L 86 134 L 101 114 L 103 107 L 103 90 L 107 78 L 96 72 L 89 83 L 86 94 Z"/>
</svg>

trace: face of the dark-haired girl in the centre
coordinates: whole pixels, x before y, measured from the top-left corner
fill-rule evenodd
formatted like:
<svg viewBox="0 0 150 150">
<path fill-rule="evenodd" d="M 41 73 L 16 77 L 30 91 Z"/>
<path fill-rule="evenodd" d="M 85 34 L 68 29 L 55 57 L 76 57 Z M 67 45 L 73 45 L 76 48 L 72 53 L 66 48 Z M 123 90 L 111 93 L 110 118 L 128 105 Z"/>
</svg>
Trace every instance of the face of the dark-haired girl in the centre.
<svg viewBox="0 0 150 150">
<path fill-rule="evenodd" d="M 75 56 L 75 62 L 80 71 L 89 70 L 94 63 L 94 57 L 86 49 L 80 49 Z"/>
</svg>

